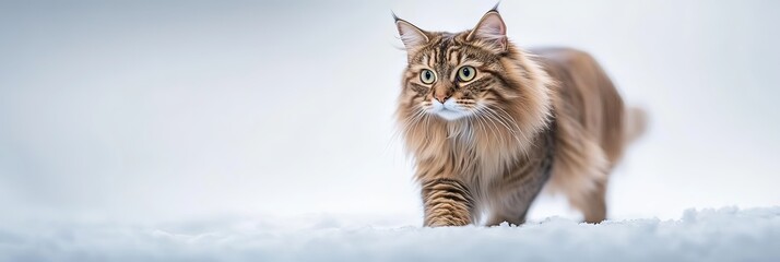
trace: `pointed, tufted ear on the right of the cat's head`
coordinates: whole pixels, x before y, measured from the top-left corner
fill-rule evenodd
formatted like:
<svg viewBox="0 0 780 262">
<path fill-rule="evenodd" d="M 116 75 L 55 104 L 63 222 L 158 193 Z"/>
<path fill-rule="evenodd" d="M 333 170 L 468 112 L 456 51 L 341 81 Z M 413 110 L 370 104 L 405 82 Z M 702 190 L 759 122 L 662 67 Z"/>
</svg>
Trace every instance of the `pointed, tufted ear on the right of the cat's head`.
<svg viewBox="0 0 780 262">
<path fill-rule="evenodd" d="M 487 11 L 487 13 L 485 13 L 485 15 L 483 15 L 480 20 L 480 23 L 476 24 L 474 29 L 469 33 L 469 36 L 466 36 L 465 39 L 469 41 L 481 39 L 487 43 L 489 47 L 496 51 L 506 51 L 507 25 L 504 24 L 501 15 L 498 14 L 498 10 L 493 8 L 493 10 Z"/>
</svg>

